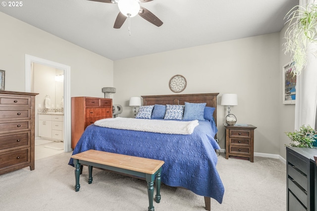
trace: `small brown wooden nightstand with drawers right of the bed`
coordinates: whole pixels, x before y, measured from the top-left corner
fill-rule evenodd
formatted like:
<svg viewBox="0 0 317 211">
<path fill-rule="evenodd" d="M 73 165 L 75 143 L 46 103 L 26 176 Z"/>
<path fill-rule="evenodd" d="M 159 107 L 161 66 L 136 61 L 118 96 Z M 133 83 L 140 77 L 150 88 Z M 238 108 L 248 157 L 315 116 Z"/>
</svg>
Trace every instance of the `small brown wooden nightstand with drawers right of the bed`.
<svg viewBox="0 0 317 211">
<path fill-rule="evenodd" d="M 253 163 L 254 129 L 253 125 L 225 125 L 226 159 L 229 156 L 249 158 Z"/>
</svg>

